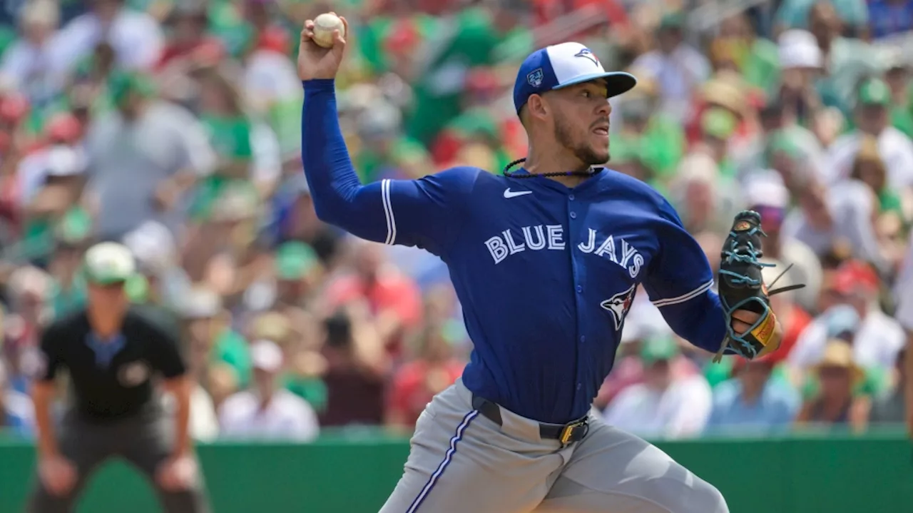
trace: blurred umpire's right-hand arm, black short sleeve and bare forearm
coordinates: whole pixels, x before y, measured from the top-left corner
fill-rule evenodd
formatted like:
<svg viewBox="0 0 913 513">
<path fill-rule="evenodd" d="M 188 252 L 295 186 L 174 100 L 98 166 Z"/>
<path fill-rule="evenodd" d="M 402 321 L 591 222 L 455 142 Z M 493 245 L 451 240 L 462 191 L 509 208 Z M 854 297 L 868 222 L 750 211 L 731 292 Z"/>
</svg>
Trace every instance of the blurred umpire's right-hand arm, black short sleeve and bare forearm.
<svg viewBox="0 0 913 513">
<path fill-rule="evenodd" d="M 161 372 L 165 392 L 174 397 L 174 448 L 175 457 L 190 454 L 190 395 L 194 388 L 193 380 L 187 372 L 184 358 L 180 351 L 180 338 L 177 329 L 171 326 L 152 325 L 152 365 Z"/>
</svg>

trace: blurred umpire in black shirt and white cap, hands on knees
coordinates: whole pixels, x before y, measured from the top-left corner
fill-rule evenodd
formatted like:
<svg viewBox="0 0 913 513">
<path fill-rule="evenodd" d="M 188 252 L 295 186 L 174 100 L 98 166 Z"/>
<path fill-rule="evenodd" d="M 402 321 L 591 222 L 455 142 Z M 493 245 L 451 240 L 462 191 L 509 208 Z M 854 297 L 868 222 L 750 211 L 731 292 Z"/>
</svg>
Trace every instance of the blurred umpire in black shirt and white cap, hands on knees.
<svg viewBox="0 0 913 513">
<path fill-rule="evenodd" d="M 88 306 L 57 319 L 41 337 L 45 365 L 33 390 L 38 480 L 29 511 L 72 511 L 90 474 L 112 456 L 151 478 L 165 511 L 208 511 L 187 431 L 193 384 L 176 330 L 166 328 L 164 318 L 131 307 L 124 284 L 136 269 L 125 246 L 90 247 L 83 271 Z M 74 401 L 56 427 L 51 403 L 62 367 Z M 153 393 L 159 377 L 176 399 L 173 417 Z"/>
</svg>

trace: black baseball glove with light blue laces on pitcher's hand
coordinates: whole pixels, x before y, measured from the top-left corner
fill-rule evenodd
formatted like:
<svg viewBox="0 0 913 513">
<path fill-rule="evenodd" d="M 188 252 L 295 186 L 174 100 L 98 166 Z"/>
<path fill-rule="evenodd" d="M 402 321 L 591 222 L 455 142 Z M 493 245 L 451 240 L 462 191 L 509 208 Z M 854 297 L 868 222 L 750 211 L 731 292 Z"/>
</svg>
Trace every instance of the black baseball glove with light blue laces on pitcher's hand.
<svg viewBox="0 0 913 513">
<path fill-rule="evenodd" d="M 761 215 L 745 210 L 736 215 L 732 230 L 723 243 L 719 264 L 719 300 L 726 313 L 728 334 L 713 361 L 719 361 L 727 347 L 749 360 L 776 350 L 780 344 L 773 340 L 776 317 L 771 310 L 769 298 L 780 292 L 805 287 L 801 284 L 771 290 L 764 284 L 761 269 L 772 267 L 773 264 L 759 261 L 763 257 L 761 236 L 767 236 L 761 231 Z M 789 267 L 786 267 L 771 282 L 770 287 L 788 270 Z M 733 313 L 736 310 L 748 310 L 759 315 L 744 333 L 732 329 Z"/>
</svg>

